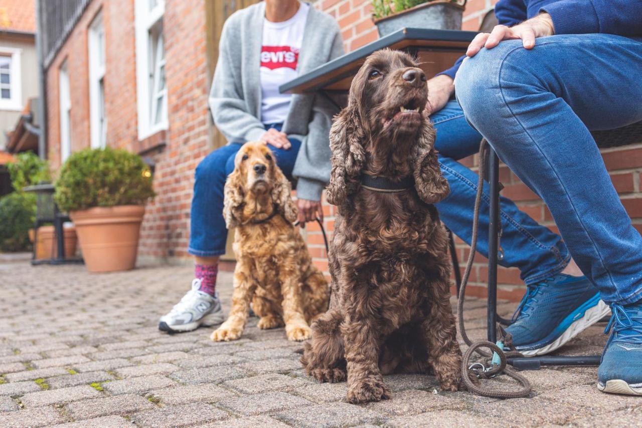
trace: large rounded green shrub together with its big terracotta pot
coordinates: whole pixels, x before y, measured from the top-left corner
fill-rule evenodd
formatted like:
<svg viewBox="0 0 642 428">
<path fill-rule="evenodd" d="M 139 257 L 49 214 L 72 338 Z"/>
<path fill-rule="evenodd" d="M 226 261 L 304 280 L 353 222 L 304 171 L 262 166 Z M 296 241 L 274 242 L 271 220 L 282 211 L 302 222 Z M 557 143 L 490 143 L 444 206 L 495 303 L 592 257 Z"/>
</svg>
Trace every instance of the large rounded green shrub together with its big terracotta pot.
<svg viewBox="0 0 642 428">
<path fill-rule="evenodd" d="M 87 148 L 69 156 L 56 180 L 55 201 L 74 222 L 87 270 L 134 267 L 144 204 L 153 196 L 152 174 L 135 154 Z"/>
</svg>

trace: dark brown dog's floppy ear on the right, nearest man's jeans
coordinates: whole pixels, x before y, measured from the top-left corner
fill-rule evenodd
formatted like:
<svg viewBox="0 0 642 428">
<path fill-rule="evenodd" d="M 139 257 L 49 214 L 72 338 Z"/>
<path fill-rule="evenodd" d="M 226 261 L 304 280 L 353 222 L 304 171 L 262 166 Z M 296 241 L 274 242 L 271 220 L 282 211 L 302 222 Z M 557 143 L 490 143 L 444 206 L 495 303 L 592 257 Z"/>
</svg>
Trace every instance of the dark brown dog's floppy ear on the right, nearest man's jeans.
<svg viewBox="0 0 642 428">
<path fill-rule="evenodd" d="M 415 159 L 415 189 L 426 204 L 436 204 L 450 192 L 448 181 L 444 178 L 437 161 L 435 150 L 435 130 L 432 123 L 425 127 L 413 154 Z"/>
</svg>

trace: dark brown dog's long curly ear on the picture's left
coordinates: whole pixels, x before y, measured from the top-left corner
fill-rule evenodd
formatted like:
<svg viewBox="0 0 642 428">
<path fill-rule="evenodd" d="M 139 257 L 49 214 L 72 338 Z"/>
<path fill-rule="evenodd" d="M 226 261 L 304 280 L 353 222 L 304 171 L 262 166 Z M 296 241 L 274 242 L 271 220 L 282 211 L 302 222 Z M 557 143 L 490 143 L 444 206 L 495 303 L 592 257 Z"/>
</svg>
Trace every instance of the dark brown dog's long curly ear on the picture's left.
<svg viewBox="0 0 642 428">
<path fill-rule="evenodd" d="M 358 111 L 351 103 L 338 115 L 330 129 L 332 170 L 327 186 L 327 201 L 342 204 L 358 186 L 358 176 L 365 161 L 365 133 L 359 124 Z"/>
</svg>

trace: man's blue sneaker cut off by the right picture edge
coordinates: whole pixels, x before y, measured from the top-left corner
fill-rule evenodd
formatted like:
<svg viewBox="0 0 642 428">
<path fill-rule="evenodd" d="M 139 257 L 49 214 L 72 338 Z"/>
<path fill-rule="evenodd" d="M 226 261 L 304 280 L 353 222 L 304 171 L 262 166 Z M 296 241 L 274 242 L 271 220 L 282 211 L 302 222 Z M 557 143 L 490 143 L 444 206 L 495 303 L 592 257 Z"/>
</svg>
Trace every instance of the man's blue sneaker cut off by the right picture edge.
<svg viewBox="0 0 642 428">
<path fill-rule="evenodd" d="M 605 333 L 611 337 L 598 368 L 598 389 L 613 394 L 642 395 L 642 301 L 612 305 Z"/>
</svg>

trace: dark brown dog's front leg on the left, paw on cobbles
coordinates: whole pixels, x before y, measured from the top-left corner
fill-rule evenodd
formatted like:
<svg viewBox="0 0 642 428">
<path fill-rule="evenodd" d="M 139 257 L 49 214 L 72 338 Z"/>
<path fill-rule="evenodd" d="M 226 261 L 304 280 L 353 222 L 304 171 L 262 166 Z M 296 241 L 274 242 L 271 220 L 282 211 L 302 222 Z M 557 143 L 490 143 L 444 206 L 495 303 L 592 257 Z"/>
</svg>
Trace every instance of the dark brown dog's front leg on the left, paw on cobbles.
<svg viewBox="0 0 642 428">
<path fill-rule="evenodd" d="M 348 371 L 349 402 L 366 403 L 392 397 L 379 371 L 381 332 L 372 317 L 346 317 L 341 326 Z"/>
</svg>

